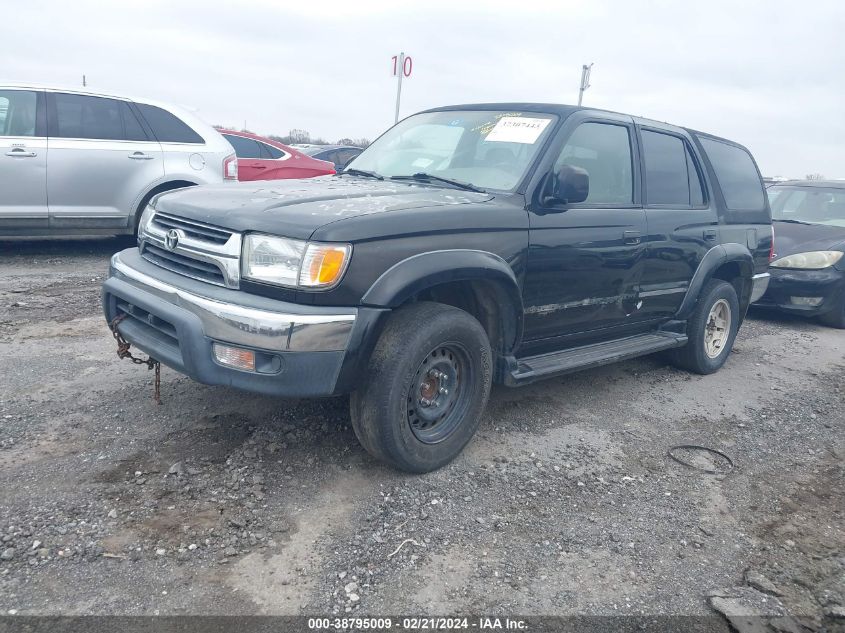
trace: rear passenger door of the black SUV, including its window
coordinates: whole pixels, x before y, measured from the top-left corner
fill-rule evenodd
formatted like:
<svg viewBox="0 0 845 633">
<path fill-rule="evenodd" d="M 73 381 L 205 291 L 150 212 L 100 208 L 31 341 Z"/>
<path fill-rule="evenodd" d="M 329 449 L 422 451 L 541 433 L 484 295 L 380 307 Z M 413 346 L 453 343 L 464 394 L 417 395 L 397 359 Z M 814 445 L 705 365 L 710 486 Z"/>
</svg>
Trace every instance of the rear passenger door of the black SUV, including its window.
<svg viewBox="0 0 845 633">
<path fill-rule="evenodd" d="M 671 317 L 704 255 L 720 243 L 718 214 L 689 137 L 651 122 L 638 130 L 648 221 L 640 312 Z"/>
</svg>

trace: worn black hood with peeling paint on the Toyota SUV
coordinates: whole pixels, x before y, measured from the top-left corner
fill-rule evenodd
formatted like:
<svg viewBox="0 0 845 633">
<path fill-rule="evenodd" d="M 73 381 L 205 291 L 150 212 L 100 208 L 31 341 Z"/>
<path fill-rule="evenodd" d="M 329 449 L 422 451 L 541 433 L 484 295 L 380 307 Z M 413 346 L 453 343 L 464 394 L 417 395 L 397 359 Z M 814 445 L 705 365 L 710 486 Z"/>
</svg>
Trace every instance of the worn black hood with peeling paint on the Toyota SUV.
<svg viewBox="0 0 845 633">
<path fill-rule="evenodd" d="M 163 194 L 157 211 L 233 231 L 308 239 L 321 226 L 373 213 L 484 202 L 487 193 L 351 176 L 223 183 Z"/>
</svg>

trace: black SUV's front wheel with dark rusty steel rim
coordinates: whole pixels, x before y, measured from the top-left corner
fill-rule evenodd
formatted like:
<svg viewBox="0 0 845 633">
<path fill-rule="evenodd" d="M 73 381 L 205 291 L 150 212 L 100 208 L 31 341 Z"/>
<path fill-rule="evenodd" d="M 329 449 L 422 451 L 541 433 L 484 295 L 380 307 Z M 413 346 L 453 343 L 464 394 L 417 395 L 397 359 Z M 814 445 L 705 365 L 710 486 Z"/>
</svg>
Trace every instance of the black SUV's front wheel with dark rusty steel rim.
<svg viewBox="0 0 845 633">
<path fill-rule="evenodd" d="M 487 333 L 467 312 L 420 302 L 391 315 L 350 398 L 352 428 L 374 457 L 436 470 L 467 445 L 492 382 Z M 428 404 L 426 404 L 428 403 Z"/>
</svg>

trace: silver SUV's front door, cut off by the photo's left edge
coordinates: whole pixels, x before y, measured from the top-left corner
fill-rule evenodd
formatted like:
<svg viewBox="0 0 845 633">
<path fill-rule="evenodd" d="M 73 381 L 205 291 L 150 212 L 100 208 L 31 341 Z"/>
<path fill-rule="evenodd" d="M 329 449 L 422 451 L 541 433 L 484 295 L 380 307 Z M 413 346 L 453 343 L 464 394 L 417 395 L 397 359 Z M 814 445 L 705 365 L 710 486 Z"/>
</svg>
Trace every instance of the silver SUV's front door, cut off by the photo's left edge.
<svg viewBox="0 0 845 633">
<path fill-rule="evenodd" d="M 0 89 L 0 231 L 47 227 L 44 93 Z"/>
</svg>

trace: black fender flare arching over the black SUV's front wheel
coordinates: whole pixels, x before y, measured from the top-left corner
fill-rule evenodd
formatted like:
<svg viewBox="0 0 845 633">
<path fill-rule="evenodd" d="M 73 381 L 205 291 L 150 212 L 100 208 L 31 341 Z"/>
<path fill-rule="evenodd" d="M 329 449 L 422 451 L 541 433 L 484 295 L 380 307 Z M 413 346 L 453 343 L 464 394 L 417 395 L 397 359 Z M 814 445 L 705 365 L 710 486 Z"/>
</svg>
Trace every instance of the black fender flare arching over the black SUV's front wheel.
<svg viewBox="0 0 845 633">
<path fill-rule="evenodd" d="M 497 304 L 503 309 L 505 352 L 522 338 L 523 305 L 519 282 L 510 265 L 487 251 L 451 249 L 430 251 L 403 259 L 376 279 L 361 303 L 380 308 L 397 308 L 414 295 L 441 284 L 456 281 L 486 281 L 503 293 Z M 511 308 L 505 311 L 506 308 Z"/>
</svg>

